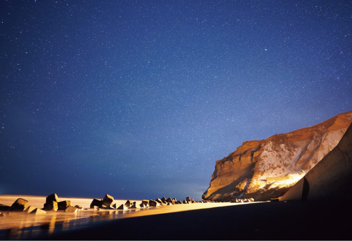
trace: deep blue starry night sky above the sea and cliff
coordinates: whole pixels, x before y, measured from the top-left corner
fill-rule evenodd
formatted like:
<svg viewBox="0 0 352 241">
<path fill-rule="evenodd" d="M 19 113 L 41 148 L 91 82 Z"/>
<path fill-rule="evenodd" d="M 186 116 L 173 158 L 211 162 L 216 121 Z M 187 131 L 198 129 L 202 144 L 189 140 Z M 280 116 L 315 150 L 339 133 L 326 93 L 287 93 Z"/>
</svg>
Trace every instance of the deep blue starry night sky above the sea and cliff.
<svg viewBox="0 0 352 241">
<path fill-rule="evenodd" d="M 0 194 L 201 199 L 352 110 L 350 1 L 1 1 Z"/>
</svg>

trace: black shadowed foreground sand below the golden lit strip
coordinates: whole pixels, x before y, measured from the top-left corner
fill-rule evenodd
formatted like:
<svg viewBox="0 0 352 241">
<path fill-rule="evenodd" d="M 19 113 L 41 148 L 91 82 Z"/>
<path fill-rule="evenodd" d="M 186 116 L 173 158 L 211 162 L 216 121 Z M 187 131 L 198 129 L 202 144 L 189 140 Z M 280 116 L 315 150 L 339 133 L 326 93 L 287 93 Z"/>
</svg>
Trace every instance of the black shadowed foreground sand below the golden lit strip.
<svg viewBox="0 0 352 241">
<path fill-rule="evenodd" d="M 351 204 L 264 202 L 140 216 L 44 240 L 352 240 Z"/>
</svg>

